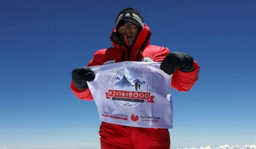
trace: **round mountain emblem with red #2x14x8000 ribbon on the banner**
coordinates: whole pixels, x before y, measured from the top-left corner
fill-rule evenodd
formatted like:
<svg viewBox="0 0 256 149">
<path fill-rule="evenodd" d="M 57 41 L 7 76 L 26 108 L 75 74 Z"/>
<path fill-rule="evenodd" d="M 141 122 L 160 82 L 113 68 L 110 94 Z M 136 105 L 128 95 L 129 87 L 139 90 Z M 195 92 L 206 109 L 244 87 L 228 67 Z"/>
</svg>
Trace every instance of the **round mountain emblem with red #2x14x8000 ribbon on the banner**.
<svg viewBox="0 0 256 149">
<path fill-rule="evenodd" d="M 110 82 L 110 89 L 106 92 L 106 99 L 111 99 L 122 106 L 134 107 L 141 103 L 154 103 L 148 91 L 146 75 L 138 68 L 117 69 Z"/>
</svg>

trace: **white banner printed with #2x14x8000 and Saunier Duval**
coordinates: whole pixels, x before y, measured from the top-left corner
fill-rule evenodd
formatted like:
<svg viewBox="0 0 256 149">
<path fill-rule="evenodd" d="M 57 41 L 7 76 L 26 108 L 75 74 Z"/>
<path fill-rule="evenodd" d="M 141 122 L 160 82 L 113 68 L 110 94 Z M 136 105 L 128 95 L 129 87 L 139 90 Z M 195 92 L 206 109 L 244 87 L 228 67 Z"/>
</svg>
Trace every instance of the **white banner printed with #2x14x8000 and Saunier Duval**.
<svg viewBox="0 0 256 149">
<path fill-rule="evenodd" d="M 121 62 L 87 67 L 87 82 L 101 121 L 135 127 L 173 128 L 171 76 L 160 62 Z"/>
</svg>

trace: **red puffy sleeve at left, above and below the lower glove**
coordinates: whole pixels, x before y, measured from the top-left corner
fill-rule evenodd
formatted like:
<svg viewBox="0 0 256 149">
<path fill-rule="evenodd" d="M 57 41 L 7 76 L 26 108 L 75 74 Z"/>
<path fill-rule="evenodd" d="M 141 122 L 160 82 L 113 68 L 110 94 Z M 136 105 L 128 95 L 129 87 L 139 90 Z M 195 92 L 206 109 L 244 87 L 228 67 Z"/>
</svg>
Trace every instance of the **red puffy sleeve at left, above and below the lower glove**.
<svg viewBox="0 0 256 149">
<path fill-rule="evenodd" d="M 89 62 L 87 67 L 89 66 L 98 66 L 98 65 L 103 65 L 104 64 L 104 55 L 105 55 L 106 49 L 98 50 L 97 52 L 94 53 L 92 60 Z M 75 87 L 73 81 L 71 81 L 71 90 L 74 93 L 76 97 L 79 99 L 87 100 L 90 101 L 93 99 L 91 92 L 89 88 L 86 88 L 84 90 L 79 90 L 78 88 Z"/>
</svg>

